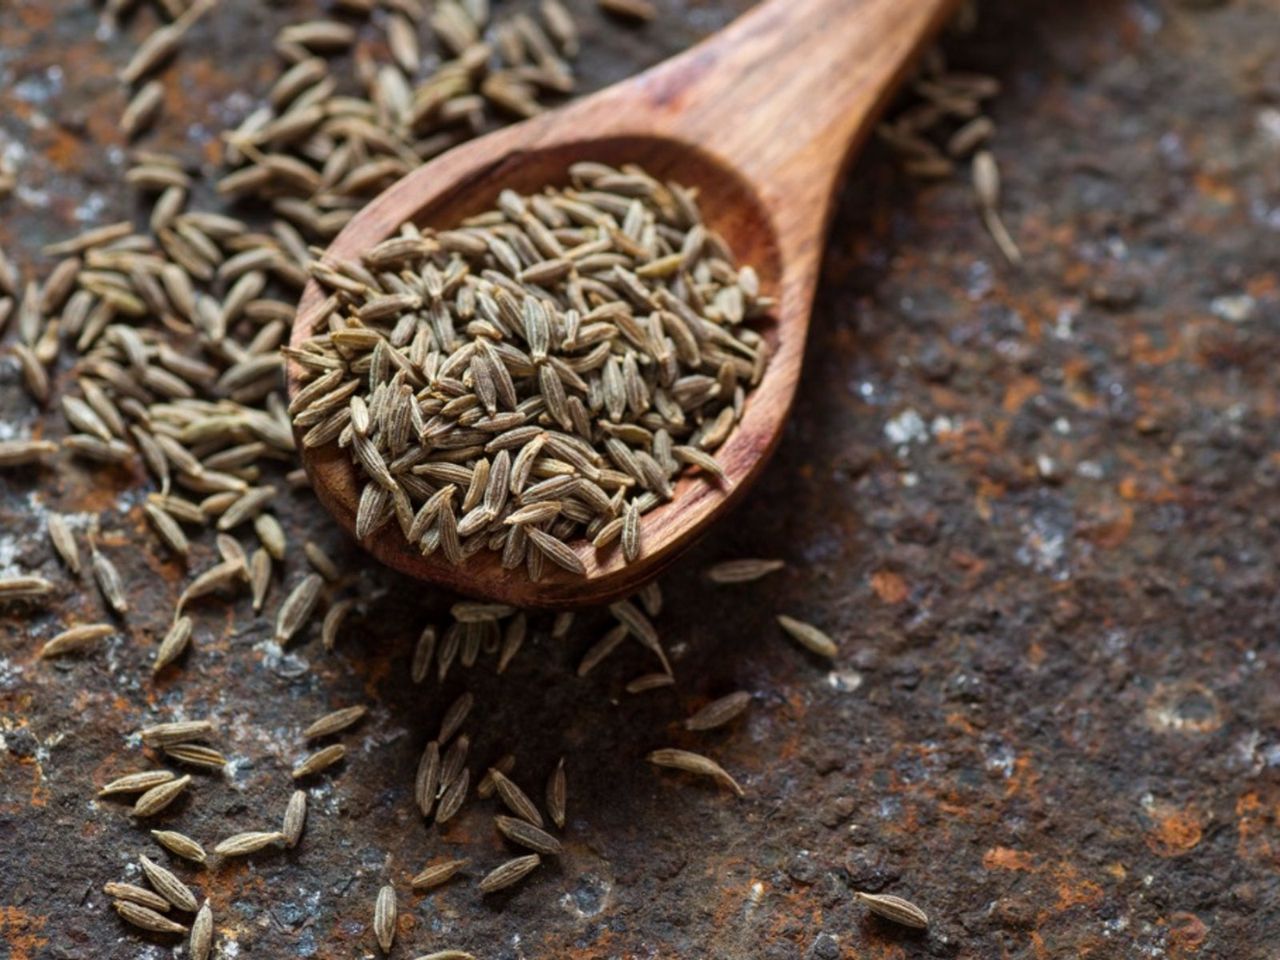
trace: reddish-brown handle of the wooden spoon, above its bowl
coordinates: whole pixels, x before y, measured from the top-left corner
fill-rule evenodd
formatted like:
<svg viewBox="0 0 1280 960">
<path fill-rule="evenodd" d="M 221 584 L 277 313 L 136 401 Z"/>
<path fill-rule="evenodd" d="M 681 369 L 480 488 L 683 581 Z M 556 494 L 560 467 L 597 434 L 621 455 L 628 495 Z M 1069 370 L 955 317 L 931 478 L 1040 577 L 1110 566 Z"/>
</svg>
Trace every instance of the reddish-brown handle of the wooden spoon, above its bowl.
<svg viewBox="0 0 1280 960">
<path fill-rule="evenodd" d="M 956 5 L 769 0 L 644 74 L 646 119 L 654 133 L 731 161 L 767 201 L 782 201 L 769 206 L 813 218 L 896 81 Z"/>
</svg>

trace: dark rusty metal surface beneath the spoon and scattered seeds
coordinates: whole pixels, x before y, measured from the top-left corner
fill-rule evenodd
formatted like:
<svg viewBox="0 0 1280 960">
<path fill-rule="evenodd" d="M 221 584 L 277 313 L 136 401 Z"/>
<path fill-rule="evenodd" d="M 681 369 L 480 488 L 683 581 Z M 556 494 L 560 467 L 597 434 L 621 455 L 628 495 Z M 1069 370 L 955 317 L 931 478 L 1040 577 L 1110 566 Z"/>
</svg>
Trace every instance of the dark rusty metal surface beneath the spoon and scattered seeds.
<svg viewBox="0 0 1280 960">
<path fill-rule="evenodd" d="M 641 33 L 588 37 L 593 86 L 745 4 L 662 5 Z M 212 156 L 210 132 L 247 106 L 233 91 L 262 90 L 273 27 L 301 6 L 211 17 L 154 142 Z M 283 810 L 301 728 L 358 700 L 372 716 L 312 788 L 297 850 L 182 870 L 214 904 L 218 956 L 372 955 L 390 878 L 403 957 L 1274 957 L 1280 5 L 988 6 L 956 61 L 1006 84 L 997 154 L 1027 269 L 998 261 L 965 183 L 908 188 L 874 147 L 856 165 L 782 449 L 664 581 L 680 685 L 626 695 L 650 668 L 639 648 L 576 678 L 590 617 L 563 645 L 539 622 L 507 676 L 465 680 L 472 765 L 513 750 L 540 796 L 568 758 L 566 855 L 511 895 L 471 883 L 504 856 L 492 804 L 444 829 L 412 810 L 417 753 L 463 678 L 413 687 L 407 663 L 448 598 L 370 568 L 291 494 L 292 540 L 330 548 L 378 599 L 329 655 L 314 632 L 268 655 L 266 617 L 204 604 L 186 667 L 152 682 L 180 571 L 146 534 L 141 472 L 0 476 L 0 564 L 59 582 L 47 608 L 0 609 L 0 956 L 170 954 L 100 893 L 154 846 L 93 799 L 143 765 L 132 731 L 219 721 L 229 774 L 197 774 L 160 818 L 212 844 Z M 28 264 L 78 220 L 131 210 L 111 72 L 136 41 L 95 26 L 78 3 L 0 9 L 0 129 L 27 154 L 0 243 Z M 0 426 L 33 417 L 0 362 Z M 56 567 L 50 508 L 100 515 L 133 604 L 127 636 L 58 663 L 35 659 L 40 641 L 102 612 Z M 790 566 L 755 586 L 699 579 L 739 556 Z M 780 636 L 780 612 L 840 639 L 835 668 Z M 755 694 L 744 721 L 678 728 L 735 687 Z M 664 745 L 714 755 L 746 797 L 641 763 Z M 471 858 L 471 881 L 408 895 L 447 854 Z M 868 918 L 855 888 L 915 900 L 929 932 Z"/>
</svg>

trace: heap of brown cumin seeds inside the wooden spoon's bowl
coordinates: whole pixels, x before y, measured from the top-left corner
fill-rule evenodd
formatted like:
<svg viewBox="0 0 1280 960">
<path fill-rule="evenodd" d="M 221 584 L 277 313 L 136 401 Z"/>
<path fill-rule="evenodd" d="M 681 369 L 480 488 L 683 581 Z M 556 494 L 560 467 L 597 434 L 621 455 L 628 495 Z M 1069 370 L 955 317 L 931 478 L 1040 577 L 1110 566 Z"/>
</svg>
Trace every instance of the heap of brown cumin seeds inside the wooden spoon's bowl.
<svg viewBox="0 0 1280 960">
<path fill-rule="evenodd" d="M 306 447 L 361 481 L 356 535 L 396 521 L 424 554 L 479 550 L 538 580 L 570 547 L 641 552 L 639 517 L 742 415 L 772 307 L 695 193 L 579 163 L 452 229 L 404 224 L 362 262 L 317 262 L 325 328 L 289 349 Z"/>
</svg>

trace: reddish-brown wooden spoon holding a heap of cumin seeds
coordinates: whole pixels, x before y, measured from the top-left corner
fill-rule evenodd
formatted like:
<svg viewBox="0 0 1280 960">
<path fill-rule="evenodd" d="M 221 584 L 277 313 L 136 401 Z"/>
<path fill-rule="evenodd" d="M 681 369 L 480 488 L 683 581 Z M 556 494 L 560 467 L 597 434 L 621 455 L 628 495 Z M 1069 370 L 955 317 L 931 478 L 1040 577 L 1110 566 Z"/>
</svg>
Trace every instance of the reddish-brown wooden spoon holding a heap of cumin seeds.
<svg viewBox="0 0 1280 960">
<path fill-rule="evenodd" d="M 727 480 L 680 480 L 641 524 L 641 556 L 576 545 L 586 576 L 552 563 L 538 582 L 481 550 L 454 567 L 422 557 L 388 524 L 364 545 L 411 576 L 518 607 L 605 603 L 636 590 L 742 499 L 777 445 L 791 408 L 832 196 L 914 54 L 955 0 L 771 0 L 699 46 L 563 109 L 460 146 L 389 187 L 342 230 L 326 257 L 358 260 L 406 220 L 449 227 L 490 209 L 499 191 L 567 180 L 570 164 L 635 163 L 696 187 L 710 227 L 777 300 L 773 347 L 741 422 L 717 452 Z M 324 300 L 307 284 L 292 343 L 311 333 Z M 291 397 L 300 370 L 289 364 Z M 347 451 L 302 448 L 311 485 L 348 531 L 358 486 Z"/>
</svg>

